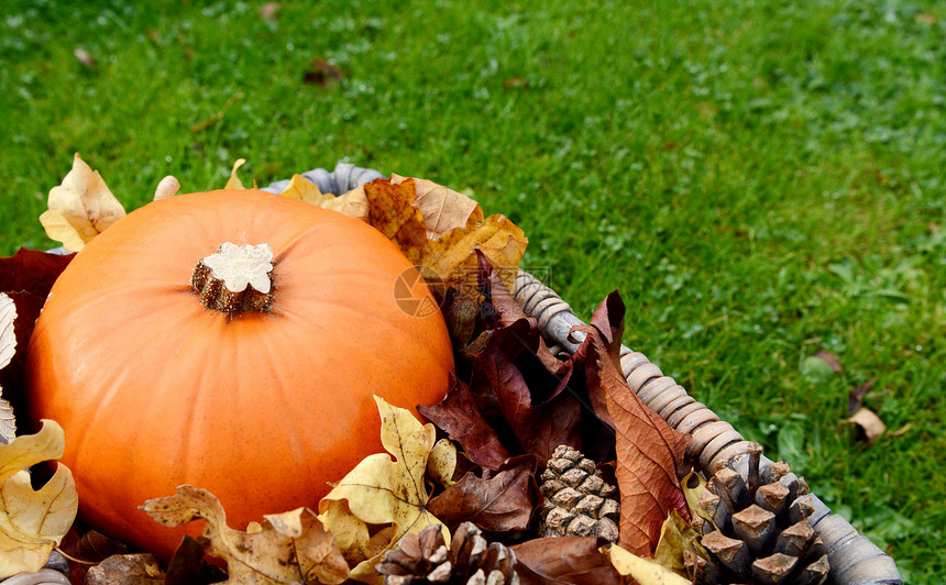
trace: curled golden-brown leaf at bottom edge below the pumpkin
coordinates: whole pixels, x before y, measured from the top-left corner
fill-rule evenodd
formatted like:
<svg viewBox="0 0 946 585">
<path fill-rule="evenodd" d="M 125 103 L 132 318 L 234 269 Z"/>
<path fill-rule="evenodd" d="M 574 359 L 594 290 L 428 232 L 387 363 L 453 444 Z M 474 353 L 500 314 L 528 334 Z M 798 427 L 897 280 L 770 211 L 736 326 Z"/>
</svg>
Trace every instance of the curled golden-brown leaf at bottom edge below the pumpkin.
<svg viewBox="0 0 946 585">
<path fill-rule="evenodd" d="M 141 507 L 153 520 L 176 528 L 204 520 L 206 550 L 227 561 L 232 584 L 342 583 L 348 564 L 332 534 L 308 508 L 264 516 L 258 530 L 227 526 L 223 506 L 211 493 L 189 485 Z"/>
</svg>

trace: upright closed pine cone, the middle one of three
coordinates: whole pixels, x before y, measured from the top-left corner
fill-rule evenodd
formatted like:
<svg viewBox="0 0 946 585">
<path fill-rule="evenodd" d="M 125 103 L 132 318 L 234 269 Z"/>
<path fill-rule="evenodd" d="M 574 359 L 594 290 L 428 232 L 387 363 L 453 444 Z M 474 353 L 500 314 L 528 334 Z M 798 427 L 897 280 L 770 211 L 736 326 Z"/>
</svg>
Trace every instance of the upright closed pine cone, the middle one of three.
<svg viewBox="0 0 946 585">
<path fill-rule="evenodd" d="M 617 542 L 617 489 L 602 479 L 594 461 L 560 445 L 542 472 L 540 537 L 602 537 Z"/>
</svg>

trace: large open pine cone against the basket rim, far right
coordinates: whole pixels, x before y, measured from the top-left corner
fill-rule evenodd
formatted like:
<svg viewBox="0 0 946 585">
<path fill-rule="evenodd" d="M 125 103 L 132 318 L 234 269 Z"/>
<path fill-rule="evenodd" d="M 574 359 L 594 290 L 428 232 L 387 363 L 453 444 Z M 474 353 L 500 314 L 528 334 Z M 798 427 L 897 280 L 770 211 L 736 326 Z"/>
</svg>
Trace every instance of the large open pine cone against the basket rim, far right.
<svg viewBox="0 0 946 585">
<path fill-rule="evenodd" d="M 810 554 L 821 539 L 809 521 L 814 508 L 807 484 L 802 477 L 782 481 L 790 472 L 785 462 L 760 474 L 761 454 L 751 443 L 747 475 L 723 467 L 700 498 L 713 522 L 703 523 L 702 538 L 711 560 L 692 553 L 684 559 L 695 583 L 810 585 L 827 578 L 827 554 Z"/>
</svg>

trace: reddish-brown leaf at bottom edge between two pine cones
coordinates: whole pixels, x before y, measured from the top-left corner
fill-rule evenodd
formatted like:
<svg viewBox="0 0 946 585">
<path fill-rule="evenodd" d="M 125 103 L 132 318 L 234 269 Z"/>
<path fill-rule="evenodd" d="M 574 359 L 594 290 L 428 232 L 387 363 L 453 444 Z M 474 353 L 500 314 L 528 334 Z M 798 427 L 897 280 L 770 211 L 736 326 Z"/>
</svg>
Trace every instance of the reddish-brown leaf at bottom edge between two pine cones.
<svg viewBox="0 0 946 585">
<path fill-rule="evenodd" d="M 604 539 L 554 537 L 532 539 L 510 547 L 524 585 L 624 584 L 610 559 L 598 549 Z"/>
</svg>

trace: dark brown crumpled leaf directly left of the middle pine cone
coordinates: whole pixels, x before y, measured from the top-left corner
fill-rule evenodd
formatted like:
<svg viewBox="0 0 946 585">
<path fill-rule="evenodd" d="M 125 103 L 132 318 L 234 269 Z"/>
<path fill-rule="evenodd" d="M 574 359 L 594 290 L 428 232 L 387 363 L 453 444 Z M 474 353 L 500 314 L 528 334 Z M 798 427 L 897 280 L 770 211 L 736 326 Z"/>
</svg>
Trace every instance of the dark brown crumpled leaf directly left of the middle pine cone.
<svg viewBox="0 0 946 585">
<path fill-rule="evenodd" d="M 510 459 L 488 477 L 468 472 L 432 498 L 427 509 L 451 530 L 465 521 L 491 532 L 528 530 L 542 498 L 535 474 L 536 457 L 531 455 Z"/>
</svg>

